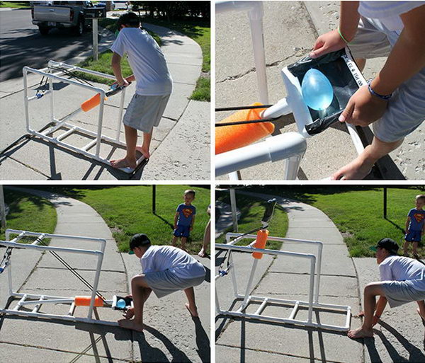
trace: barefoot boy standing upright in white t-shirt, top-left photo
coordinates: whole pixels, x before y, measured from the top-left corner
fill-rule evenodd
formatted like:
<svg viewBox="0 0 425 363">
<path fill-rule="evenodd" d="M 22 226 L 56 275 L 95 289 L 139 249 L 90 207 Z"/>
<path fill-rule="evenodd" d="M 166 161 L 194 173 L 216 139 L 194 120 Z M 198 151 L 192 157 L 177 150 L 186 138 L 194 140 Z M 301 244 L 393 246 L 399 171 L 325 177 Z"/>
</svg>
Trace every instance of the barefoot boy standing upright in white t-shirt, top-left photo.
<svg viewBox="0 0 425 363">
<path fill-rule="evenodd" d="M 128 86 L 136 81 L 136 93 L 132 97 L 123 123 L 127 154 L 124 159 L 113 160 L 114 168 L 135 168 L 136 151 L 149 159 L 149 146 L 154 126 L 159 125 L 173 87 L 166 60 L 157 42 L 140 29 L 140 20 L 135 13 L 125 13 L 118 19 L 118 37 L 111 47 L 111 67 L 118 86 Z M 121 59 L 128 54 L 133 75 L 128 81 L 121 73 Z M 143 132 L 143 144 L 137 146 L 137 130 Z"/>
</svg>

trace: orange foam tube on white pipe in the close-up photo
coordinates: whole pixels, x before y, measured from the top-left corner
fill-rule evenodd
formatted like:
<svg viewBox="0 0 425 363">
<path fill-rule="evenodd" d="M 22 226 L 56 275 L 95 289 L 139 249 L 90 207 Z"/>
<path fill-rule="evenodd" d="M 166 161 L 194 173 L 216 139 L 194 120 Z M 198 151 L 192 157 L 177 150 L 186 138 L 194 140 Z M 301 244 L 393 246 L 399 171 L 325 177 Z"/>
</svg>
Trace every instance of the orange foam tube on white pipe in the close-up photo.
<svg viewBox="0 0 425 363">
<path fill-rule="evenodd" d="M 260 106 L 262 104 L 254 103 L 253 105 Z M 240 110 L 218 123 L 259 120 L 261 119 L 260 114 L 263 110 L 266 110 L 266 108 Z M 252 144 L 259 139 L 266 137 L 268 134 L 271 134 L 273 131 L 274 125 L 272 122 L 215 127 L 215 154 L 221 154 L 226 151 Z"/>
</svg>

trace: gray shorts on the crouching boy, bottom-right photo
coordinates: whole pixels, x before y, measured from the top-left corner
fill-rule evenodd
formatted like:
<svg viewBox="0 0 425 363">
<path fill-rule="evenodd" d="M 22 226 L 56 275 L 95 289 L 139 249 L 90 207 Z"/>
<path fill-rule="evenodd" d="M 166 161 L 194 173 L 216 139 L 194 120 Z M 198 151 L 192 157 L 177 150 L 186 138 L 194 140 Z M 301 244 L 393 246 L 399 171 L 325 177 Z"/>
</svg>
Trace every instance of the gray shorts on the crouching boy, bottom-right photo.
<svg viewBox="0 0 425 363">
<path fill-rule="evenodd" d="M 382 282 L 382 289 L 392 308 L 412 301 L 425 300 L 425 291 L 414 289 L 408 281 L 385 281 Z"/>
</svg>

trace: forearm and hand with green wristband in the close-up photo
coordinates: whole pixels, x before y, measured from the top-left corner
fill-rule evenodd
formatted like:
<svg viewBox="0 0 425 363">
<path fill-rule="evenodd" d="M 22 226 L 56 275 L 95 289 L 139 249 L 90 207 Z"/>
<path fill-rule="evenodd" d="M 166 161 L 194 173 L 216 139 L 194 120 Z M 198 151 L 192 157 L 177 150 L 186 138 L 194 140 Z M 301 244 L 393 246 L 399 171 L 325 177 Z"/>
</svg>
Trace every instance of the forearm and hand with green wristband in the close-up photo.
<svg viewBox="0 0 425 363">
<path fill-rule="evenodd" d="M 357 32 L 358 21 L 360 21 L 360 14 L 357 9 L 358 1 L 341 1 L 339 31 L 347 42 L 351 42 Z M 346 42 L 341 35 L 339 35 L 338 29 L 320 35 L 314 43 L 312 52 L 310 52 L 310 58 L 317 58 L 344 48 Z"/>
</svg>

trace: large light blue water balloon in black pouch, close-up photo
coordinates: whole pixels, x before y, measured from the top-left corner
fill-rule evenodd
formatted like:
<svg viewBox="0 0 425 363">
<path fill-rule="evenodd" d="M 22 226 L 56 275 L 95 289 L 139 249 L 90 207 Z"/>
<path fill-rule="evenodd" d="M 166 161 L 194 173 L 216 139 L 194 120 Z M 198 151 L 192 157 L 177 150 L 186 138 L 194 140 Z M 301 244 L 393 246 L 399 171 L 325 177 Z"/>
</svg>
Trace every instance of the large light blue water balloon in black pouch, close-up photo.
<svg viewBox="0 0 425 363">
<path fill-rule="evenodd" d="M 304 102 L 313 110 L 325 110 L 334 98 L 334 90 L 327 76 L 313 68 L 304 75 L 301 91 Z"/>
</svg>

